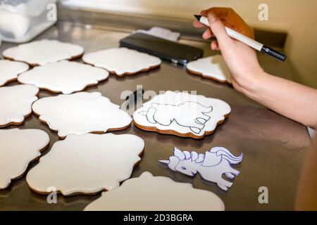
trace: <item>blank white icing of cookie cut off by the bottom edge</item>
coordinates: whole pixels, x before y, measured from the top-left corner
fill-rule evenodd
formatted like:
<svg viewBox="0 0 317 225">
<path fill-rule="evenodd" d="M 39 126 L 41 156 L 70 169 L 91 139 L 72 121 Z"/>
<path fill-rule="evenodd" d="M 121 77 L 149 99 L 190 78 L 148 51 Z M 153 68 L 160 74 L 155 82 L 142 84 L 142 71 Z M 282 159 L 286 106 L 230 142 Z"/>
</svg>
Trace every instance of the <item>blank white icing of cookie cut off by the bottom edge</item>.
<svg viewBox="0 0 317 225">
<path fill-rule="evenodd" d="M 144 172 L 119 188 L 103 192 L 86 211 L 223 211 L 223 201 L 210 191 L 165 176 Z"/>
</svg>

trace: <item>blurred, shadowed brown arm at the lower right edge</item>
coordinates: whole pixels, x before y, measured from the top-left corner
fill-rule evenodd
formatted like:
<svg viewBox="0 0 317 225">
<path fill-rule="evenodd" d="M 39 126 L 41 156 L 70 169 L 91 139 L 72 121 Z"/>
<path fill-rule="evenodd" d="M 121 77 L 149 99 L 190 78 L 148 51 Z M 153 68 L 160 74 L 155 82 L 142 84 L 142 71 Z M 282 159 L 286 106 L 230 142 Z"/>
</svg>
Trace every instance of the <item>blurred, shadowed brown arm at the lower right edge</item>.
<svg viewBox="0 0 317 225">
<path fill-rule="evenodd" d="M 317 210 L 317 139 L 309 148 L 297 189 L 296 210 Z"/>
</svg>

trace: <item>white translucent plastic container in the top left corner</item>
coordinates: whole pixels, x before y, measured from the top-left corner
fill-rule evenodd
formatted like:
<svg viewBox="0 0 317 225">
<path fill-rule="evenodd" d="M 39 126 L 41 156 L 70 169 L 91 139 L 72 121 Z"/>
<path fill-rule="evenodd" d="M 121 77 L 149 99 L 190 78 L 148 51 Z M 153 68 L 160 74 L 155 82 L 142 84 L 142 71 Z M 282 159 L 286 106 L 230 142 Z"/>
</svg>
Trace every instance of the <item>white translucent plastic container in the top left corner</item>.
<svg viewBox="0 0 317 225">
<path fill-rule="evenodd" d="M 56 23 L 56 0 L 0 0 L 0 36 L 22 43 Z"/>
</svg>

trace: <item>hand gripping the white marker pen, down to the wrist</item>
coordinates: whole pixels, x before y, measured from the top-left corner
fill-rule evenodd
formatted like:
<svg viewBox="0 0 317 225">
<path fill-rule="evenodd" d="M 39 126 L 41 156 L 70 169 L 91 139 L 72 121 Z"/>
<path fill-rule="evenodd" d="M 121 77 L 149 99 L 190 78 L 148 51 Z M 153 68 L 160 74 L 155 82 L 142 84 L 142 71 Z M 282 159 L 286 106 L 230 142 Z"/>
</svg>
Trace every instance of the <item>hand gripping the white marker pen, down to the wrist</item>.
<svg viewBox="0 0 317 225">
<path fill-rule="evenodd" d="M 197 20 L 194 21 L 194 27 L 208 28 L 203 34 L 204 39 L 216 37 L 217 40 L 211 42 L 211 49 L 220 50 L 223 55 L 232 75 L 232 85 L 244 93 L 251 91 L 254 82 L 259 82 L 265 73 L 256 58 L 256 51 L 229 37 L 225 32 L 225 26 L 254 38 L 252 28 L 232 8 L 209 8 L 201 11 L 201 15 L 209 18 L 210 27 L 206 27 Z"/>
</svg>

